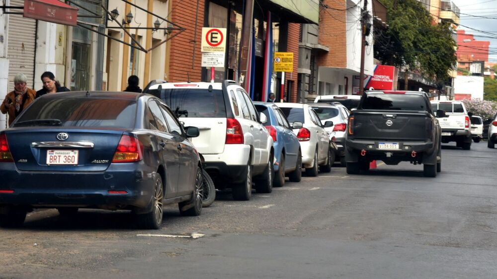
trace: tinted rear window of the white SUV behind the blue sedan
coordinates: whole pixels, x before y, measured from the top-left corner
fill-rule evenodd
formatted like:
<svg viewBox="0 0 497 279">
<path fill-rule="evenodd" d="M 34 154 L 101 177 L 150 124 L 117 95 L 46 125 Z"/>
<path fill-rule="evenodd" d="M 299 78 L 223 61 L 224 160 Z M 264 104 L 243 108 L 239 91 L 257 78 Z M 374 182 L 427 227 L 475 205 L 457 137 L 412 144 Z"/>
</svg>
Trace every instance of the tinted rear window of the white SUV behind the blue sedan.
<svg viewBox="0 0 497 279">
<path fill-rule="evenodd" d="M 178 87 L 148 93 L 163 100 L 178 117 L 226 118 L 222 90 Z"/>
</svg>

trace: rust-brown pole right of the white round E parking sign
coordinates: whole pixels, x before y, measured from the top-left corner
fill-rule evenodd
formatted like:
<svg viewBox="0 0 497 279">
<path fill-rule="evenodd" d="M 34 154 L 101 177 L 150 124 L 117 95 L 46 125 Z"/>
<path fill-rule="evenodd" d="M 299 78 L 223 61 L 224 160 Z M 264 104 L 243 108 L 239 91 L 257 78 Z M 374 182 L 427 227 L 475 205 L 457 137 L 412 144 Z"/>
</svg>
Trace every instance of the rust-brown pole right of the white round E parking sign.
<svg viewBox="0 0 497 279">
<path fill-rule="evenodd" d="M 248 72 L 248 50 L 252 47 L 250 43 L 250 38 L 252 37 L 252 17 L 253 17 L 253 0 L 245 1 L 245 17 L 243 22 L 242 29 L 242 44 L 240 46 L 241 57 L 240 57 L 240 73 L 239 73 L 239 82 L 245 90 L 248 89 L 248 80 L 247 80 L 247 72 Z"/>
</svg>

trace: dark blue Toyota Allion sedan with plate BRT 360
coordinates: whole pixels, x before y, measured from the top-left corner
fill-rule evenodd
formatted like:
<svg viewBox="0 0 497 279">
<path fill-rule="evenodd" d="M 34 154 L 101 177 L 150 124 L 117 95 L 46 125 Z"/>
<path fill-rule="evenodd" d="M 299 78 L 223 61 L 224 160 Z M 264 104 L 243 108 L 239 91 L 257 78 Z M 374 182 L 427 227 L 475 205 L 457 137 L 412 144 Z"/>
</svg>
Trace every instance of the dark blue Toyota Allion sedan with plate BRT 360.
<svg viewBox="0 0 497 279">
<path fill-rule="evenodd" d="M 46 94 L 0 133 L 0 224 L 33 208 L 132 210 L 158 229 L 163 206 L 202 209 L 202 166 L 174 113 L 159 99 L 123 92 Z"/>
</svg>

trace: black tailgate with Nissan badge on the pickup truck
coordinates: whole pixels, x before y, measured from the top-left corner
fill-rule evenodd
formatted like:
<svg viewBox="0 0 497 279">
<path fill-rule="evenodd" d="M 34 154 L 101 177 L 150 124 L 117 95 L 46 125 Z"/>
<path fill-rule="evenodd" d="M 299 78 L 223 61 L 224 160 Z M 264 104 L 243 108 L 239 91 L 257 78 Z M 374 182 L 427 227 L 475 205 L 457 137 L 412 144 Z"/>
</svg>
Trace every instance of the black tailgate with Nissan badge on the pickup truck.
<svg viewBox="0 0 497 279">
<path fill-rule="evenodd" d="M 354 139 L 423 140 L 431 137 L 428 112 L 354 111 Z"/>
</svg>

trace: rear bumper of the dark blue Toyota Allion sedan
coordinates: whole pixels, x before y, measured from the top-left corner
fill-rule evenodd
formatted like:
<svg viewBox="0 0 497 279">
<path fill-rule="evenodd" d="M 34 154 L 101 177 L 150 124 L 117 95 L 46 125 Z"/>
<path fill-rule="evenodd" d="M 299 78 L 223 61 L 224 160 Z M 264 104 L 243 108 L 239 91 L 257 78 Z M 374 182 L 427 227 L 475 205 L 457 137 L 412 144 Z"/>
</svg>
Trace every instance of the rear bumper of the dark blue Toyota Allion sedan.
<svg viewBox="0 0 497 279">
<path fill-rule="evenodd" d="M 18 171 L 12 163 L 0 163 L 0 189 L 13 190 L 0 193 L 0 206 L 149 209 L 154 173 L 139 167 L 140 163 L 126 163 L 111 164 L 106 171 L 46 172 Z"/>
</svg>

